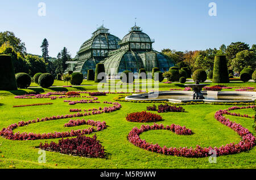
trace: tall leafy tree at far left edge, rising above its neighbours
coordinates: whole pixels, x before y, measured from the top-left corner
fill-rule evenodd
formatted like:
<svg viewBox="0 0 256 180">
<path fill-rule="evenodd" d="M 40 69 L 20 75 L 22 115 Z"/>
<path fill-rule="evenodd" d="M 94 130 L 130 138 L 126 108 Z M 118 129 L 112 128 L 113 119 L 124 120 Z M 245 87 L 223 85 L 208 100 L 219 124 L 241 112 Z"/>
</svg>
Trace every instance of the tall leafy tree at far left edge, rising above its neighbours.
<svg viewBox="0 0 256 180">
<path fill-rule="evenodd" d="M 22 42 L 20 38 L 15 37 L 13 32 L 10 32 L 10 31 L 0 32 L 0 46 L 2 46 L 7 41 L 13 47 L 15 52 L 19 52 L 23 55 L 26 54 L 26 47 L 24 42 Z"/>
</svg>

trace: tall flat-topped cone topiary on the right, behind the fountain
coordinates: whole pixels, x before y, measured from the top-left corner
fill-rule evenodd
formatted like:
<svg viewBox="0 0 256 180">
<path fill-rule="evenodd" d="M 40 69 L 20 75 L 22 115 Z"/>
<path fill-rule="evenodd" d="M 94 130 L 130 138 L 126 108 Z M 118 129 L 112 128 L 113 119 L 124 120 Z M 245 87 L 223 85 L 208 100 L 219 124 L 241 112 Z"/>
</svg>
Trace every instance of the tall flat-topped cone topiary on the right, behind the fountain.
<svg viewBox="0 0 256 180">
<path fill-rule="evenodd" d="M 213 83 L 229 83 L 228 66 L 225 55 L 216 55 L 213 67 Z"/>
</svg>

